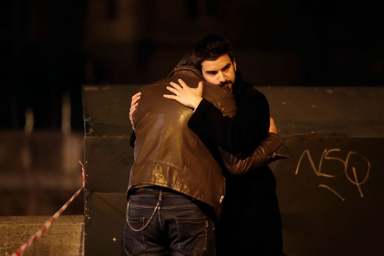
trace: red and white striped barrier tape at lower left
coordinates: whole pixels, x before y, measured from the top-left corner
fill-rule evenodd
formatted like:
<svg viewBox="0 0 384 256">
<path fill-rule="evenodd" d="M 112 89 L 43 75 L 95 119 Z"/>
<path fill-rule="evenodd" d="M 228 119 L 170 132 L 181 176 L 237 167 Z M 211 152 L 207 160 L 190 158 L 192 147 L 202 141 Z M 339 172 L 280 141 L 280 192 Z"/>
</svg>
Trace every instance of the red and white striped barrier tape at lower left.
<svg viewBox="0 0 384 256">
<path fill-rule="evenodd" d="M 44 232 L 55 222 L 55 220 L 57 218 L 59 218 L 60 214 L 63 213 L 63 211 L 67 208 L 67 206 L 73 201 L 73 199 L 78 196 L 78 194 L 80 193 L 80 191 L 84 188 L 85 186 L 85 168 L 84 168 L 84 165 L 81 163 L 81 161 L 79 161 L 82 168 L 81 170 L 83 170 L 83 186 L 81 188 L 79 188 L 79 190 L 71 197 L 71 199 L 68 200 L 68 202 L 66 202 L 63 207 L 61 207 L 61 209 L 55 213 L 55 215 L 53 215 L 50 219 L 48 219 L 48 221 L 46 221 L 46 223 L 44 223 L 44 225 L 35 233 L 35 235 L 33 235 L 30 239 L 28 239 L 28 241 L 26 241 L 25 244 L 23 244 L 22 246 L 20 246 L 14 253 L 12 253 L 11 256 L 21 256 L 23 255 L 30 247 L 33 243 L 36 242 L 37 239 L 40 238 L 40 236 L 42 234 L 44 234 Z"/>
</svg>

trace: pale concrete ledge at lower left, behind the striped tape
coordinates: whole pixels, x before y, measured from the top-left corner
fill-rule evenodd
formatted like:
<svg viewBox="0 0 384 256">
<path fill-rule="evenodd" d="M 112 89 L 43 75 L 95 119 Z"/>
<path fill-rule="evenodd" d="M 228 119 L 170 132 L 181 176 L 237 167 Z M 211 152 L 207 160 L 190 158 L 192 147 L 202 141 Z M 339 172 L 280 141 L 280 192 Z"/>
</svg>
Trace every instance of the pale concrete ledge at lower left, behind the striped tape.
<svg viewBox="0 0 384 256">
<path fill-rule="evenodd" d="M 0 216 L 0 255 L 11 255 L 51 216 Z M 63 215 L 41 236 L 25 256 L 84 255 L 84 216 Z"/>
</svg>

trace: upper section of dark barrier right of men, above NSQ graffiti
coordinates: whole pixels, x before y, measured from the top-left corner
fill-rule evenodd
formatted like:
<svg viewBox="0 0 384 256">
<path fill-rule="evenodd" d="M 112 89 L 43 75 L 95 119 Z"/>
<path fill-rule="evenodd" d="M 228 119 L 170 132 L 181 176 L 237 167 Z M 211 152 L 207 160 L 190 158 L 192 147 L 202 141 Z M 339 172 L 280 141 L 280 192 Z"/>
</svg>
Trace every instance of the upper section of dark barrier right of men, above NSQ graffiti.
<svg viewBox="0 0 384 256">
<path fill-rule="evenodd" d="M 257 86 L 279 134 L 384 136 L 383 87 Z"/>
</svg>

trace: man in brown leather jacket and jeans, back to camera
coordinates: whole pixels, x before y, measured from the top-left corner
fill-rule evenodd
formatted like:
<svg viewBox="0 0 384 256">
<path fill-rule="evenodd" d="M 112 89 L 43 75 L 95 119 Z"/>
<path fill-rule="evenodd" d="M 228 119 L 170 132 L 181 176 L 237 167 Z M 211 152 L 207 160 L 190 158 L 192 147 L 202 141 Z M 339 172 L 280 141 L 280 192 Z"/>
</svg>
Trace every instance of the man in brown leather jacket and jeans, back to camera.
<svg viewBox="0 0 384 256">
<path fill-rule="evenodd" d="M 128 255 L 215 255 L 214 222 L 225 197 L 222 158 L 237 174 L 265 164 L 271 149 L 282 143 L 277 137 L 265 141 L 264 154 L 259 149 L 248 159 L 223 157 L 216 145 L 188 128 L 193 110 L 163 97 L 169 83 L 181 78 L 200 88 L 204 80 L 193 67 L 176 68 L 168 78 L 142 88 L 135 105 L 135 162 L 124 231 Z M 223 115 L 235 116 L 230 90 L 204 82 L 202 95 Z"/>
</svg>

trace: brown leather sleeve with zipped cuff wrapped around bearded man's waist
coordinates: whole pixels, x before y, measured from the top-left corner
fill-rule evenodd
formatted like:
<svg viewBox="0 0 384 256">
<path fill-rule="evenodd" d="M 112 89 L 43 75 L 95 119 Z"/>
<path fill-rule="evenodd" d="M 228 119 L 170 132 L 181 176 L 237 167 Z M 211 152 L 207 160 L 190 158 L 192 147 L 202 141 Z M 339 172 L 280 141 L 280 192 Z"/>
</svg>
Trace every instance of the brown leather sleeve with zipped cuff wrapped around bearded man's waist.
<svg viewBox="0 0 384 256">
<path fill-rule="evenodd" d="M 243 156 L 242 153 L 230 154 L 219 147 L 223 163 L 232 175 L 243 175 L 247 171 L 265 166 L 272 161 L 287 158 L 275 152 L 283 146 L 283 139 L 276 133 L 268 133 L 268 136 L 251 156 Z"/>
</svg>

